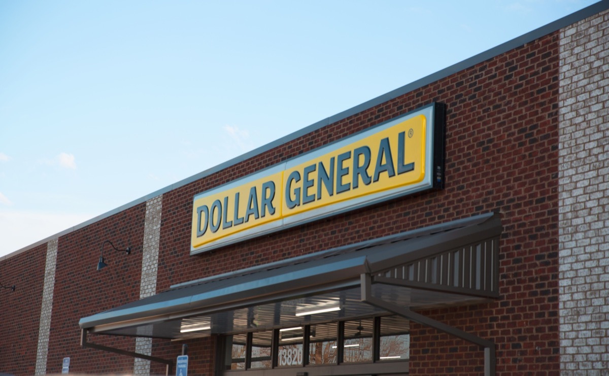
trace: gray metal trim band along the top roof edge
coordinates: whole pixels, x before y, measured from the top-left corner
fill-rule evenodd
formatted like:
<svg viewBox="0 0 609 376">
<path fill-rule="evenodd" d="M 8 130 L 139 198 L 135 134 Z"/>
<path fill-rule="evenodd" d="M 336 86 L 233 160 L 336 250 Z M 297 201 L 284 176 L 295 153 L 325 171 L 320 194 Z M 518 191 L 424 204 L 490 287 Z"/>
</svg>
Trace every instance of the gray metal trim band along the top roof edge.
<svg viewBox="0 0 609 376">
<path fill-rule="evenodd" d="M 515 49 L 516 47 L 523 46 L 524 44 L 529 43 L 530 41 L 534 41 L 538 38 L 544 37 L 545 35 L 548 35 L 549 33 L 558 31 L 563 27 L 577 23 L 578 21 L 581 21 L 582 19 L 596 15 L 597 13 L 602 12 L 603 10 L 607 10 L 607 9 L 609 9 L 609 0 L 599 1 L 593 5 L 585 7 L 584 9 L 571 13 L 568 16 L 557 19 L 556 21 L 554 21 L 552 23 L 549 23 L 545 26 L 541 26 L 538 29 L 532 30 L 531 32 L 521 35 L 520 37 L 516 37 L 510 41 L 499 44 L 499 46 L 488 49 L 485 52 L 482 52 L 481 54 L 474 55 L 473 57 L 467 58 L 463 61 L 460 61 L 459 63 L 453 64 L 453 65 L 449 66 L 448 68 L 442 69 L 441 71 L 438 71 L 438 72 L 430 74 L 426 77 L 420 78 L 419 80 L 416 80 L 415 82 L 401 86 L 400 88 L 397 88 L 395 90 L 382 94 L 381 96 L 368 100 L 367 102 L 361 103 L 360 105 L 354 106 L 348 110 L 342 111 L 333 116 L 326 117 L 326 119 L 320 120 L 319 122 L 315 122 L 314 124 L 311 124 L 308 127 L 302 128 L 301 130 L 295 131 L 294 133 L 287 134 L 286 136 L 284 136 L 280 139 L 276 139 L 275 141 L 269 142 L 269 144 L 262 145 L 261 147 L 255 148 L 252 151 L 248 151 L 247 153 L 245 153 L 241 156 L 237 156 L 224 163 L 220 163 L 219 165 L 216 165 L 215 167 L 211 167 L 210 169 L 197 173 L 196 175 L 192 175 L 189 178 L 180 180 L 177 183 L 171 184 L 170 186 L 161 188 L 142 198 L 138 198 L 137 200 L 124 204 L 123 206 L 119 206 L 118 208 L 113 209 L 109 212 L 98 215 L 97 217 L 94 217 L 91 220 L 80 223 L 80 225 L 66 229 L 65 231 L 62 231 L 62 232 L 58 232 L 55 235 L 52 235 L 48 238 L 44 238 L 43 240 L 40 240 L 40 242 L 33 243 L 32 245 L 21 248 L 18 251 L 12 252 L 6 256 L 1 256 L 0 261 L 2 261 L 4 259 L 8 259 L 9 257 L 15 256 L 21 252 L 27 251 L 36 246 L 42 245 L 42 244 L 48 242 L 49 240 L 51 240 L 52 238 L 58 238 L 60 236 L 69 234 L 70 232 L 84 228 L 85 226 L 96 223 L 97 221 L 102 220 L 104 218 L 108 218 L 111 215 L 122 212 L 126 209 L 129 209 L 130 207 L 144 203 L 147 200 L 150 200 L 150 198 L 157 197 L 159 195 L 162 195 L 163 193 L 171 192 L 171 190 L 177 189 L 179 187 L 185 186 L 186 184 L 190 184 L 194 181 L 205 178 L 205 176 L 212 175 L 213 173 L 224 170 L 227 167 L 238 164 L 239 162 L 245 161 L 249 158 L 252 158 L 253 156 L 262 154 L 266 151 L 271 150 L 274 147 L 283 145 L 286 142 L 297 139 L 300 136 L 311 133 L 312 131 L 318 130 L 319 128 L 323 128 L 326 125 L 333 124 L 334 122 L 345 119 L 346 117 L 357 114 L 363 110 L 367 110 L 368 108 L 371 108 L 373 106 L 379 105 L 384 102 L 387 102 L 388 100 L 392 100 L 396 97 L 406 94 L 407 92 L 421 88 L 425 85 L 428 85 L 429 83 L 433 83 L 438 80 L 441 80 L 442 78 L 448 77 L 451 74 L 463 71 L 464 69 L 470 68 L 471 66 L 474 66 L 478 63 L 482 63 L 482 61 L 496 57 L 497 55 L 500 55 L 500 54 L 503 54 L 504 52 Z"/>
</svg>

